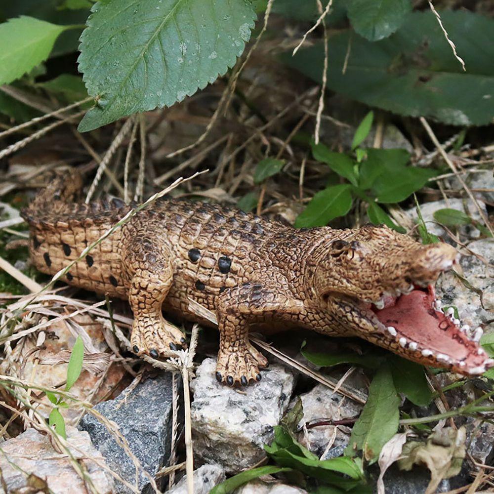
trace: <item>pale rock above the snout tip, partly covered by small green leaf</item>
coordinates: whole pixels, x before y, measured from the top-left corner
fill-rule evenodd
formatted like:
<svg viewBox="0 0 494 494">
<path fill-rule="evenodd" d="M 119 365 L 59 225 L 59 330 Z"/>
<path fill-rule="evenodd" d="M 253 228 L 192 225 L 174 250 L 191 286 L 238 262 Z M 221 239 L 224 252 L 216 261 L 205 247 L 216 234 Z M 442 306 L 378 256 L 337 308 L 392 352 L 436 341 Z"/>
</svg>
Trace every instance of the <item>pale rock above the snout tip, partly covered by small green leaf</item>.
<svg viewBox="0 0 494 494">
<path fill-rule="evenodd" d="M 465 211 L 465 207 L 463 206 L 463 200 L 462 199 L 449 199 L 448 202 L 446 201 L 433 201 L 431 203 L 425 203 L 420 205 L 420 212 L 422 213 L 422 218 L 424 219 L 425 226 L 427 227 L 427 231 L 429 233 L 433 233 L 434 235 L 442 236 L 445 241 L 447 242 L 452 242 L 450 239 L 450 236 L 446 233 L 446 231 L 436 223 L 436 220 L 434 219 L 434 213 L 438 209 L 445 209 L 445 208 L 451 208 L 451 209 L 458 209 L 460 211 L 463 211 L 467 213 L 471 218 L 474 220 L 477 220 L 481 223 L 483 223 L 482 218 L 480 216 L 480 213 L 473 203 L 471 199 L 468 199 L 465 201 L 467 210 Z M 480 202 L 479 206 L 482 207 L 484 213 L 486 213 L 486 208 L 484 203 Z M 417 211 L 415 207 L 412 207 L 408 209 L 407 211 L 408 215 L 412 217 L 413 221 L 417 220 Z M 487 214 L 487 213 L 486 213 Z M 477 228 L 471 226 L 471 225 L 465 225 L 459 228 L 459 232 L 462 235 L 466 235 L 470 238 L 478 238 L 480 235 L 479 230 Z"/>
</svg>

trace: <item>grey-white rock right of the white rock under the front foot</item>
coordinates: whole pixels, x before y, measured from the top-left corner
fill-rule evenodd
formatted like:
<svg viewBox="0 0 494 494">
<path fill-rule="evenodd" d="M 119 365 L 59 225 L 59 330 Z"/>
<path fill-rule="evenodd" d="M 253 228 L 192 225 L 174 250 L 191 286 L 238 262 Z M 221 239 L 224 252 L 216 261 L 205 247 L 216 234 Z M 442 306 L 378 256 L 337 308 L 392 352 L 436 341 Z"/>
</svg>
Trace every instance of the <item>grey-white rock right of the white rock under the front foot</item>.
<svg viewBox="0 0 494 494">
<path fill-rule="evenodd" d="M 333 393 L 324 384 L 318 384 L 311 391 L 300 395 L 303 406 L 303 417 L 298 423 L 302 427 L 306 422 L 317 419 L 341 420 L 360 414 L 362 405 Z M 294 401 L 292 402 L 295 403 Z M 343 453 L 350 439 L 351 429 L 344 425 L 321 425 L 302 430 L 298 441 L 321 459 L 329 459 Z"/>
</svg>

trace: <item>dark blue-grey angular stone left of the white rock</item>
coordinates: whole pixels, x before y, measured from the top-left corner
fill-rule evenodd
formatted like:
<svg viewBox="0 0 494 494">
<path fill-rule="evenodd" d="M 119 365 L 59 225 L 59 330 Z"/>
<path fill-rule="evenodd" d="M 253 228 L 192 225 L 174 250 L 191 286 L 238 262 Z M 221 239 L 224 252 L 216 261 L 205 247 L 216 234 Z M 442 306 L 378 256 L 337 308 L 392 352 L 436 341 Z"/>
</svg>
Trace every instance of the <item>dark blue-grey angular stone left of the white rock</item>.
<svg viewBox="0 0 494 494">
<path fill-rule="evenodd" d="M 134 389 L 131 388 L 125 389 L 115 400 L 100 403 L 94 408 L 117 424 L 131 452 L 154 477 L 167 461 L 170 450 L 172 377 L 170 373 L 164 372 L 155 378 L 148 377 Z M 135 467 L 132 459 L 116 443 L 106 427 L 89 414 L 82 417 L 79 427 L 89 432 L 110 468 L 128 482 L 134 483 Z M 139 488 L 144 493 L 151 492 L 149 481 L 142 472 L 139 472 Z M 131 491 L 116 482 L 115 492 Z"/>
</svg>

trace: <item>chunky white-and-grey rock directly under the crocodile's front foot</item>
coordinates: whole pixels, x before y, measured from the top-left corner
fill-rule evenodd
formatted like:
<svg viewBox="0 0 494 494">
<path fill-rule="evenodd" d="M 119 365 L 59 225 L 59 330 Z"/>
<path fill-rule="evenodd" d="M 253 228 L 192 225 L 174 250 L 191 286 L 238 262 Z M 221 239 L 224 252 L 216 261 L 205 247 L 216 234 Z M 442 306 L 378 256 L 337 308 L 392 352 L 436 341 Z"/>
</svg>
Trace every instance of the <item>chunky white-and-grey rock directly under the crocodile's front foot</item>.
<svg viewBox="0 0 494 494">
<path fill-rule="evenodd" d="M 236 390 L 216 381 L 215 368 L 213 359 L 205 359 L 191 383 L 194 454 L 238 473 L 265 457 L 263 445 L 288 407 L 294 379 L 273 365 L 255 386 Z"/>
</svg>

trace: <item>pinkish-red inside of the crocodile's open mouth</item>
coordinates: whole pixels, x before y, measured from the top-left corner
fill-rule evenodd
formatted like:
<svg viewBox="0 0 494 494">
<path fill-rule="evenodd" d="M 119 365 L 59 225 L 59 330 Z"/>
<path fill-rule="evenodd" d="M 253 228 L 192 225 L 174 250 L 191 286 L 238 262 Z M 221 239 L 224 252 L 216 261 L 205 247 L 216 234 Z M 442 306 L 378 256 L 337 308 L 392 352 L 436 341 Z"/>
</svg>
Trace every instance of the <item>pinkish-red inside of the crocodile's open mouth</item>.
<svg viewBox="0 0 494 494">
<path fill-rule="evenodd" d="M 442 311 L 434 309 L 434 288 L 415 287 L 408 295 L 387 297 L 384 308 L 372 310 L 386 327 L 392 326 L 398 338 L 416 342 L 418 350 L 429 349 L 452 357 L 465 359 L 474 343 L 455 326 Z"/>
</svg>

